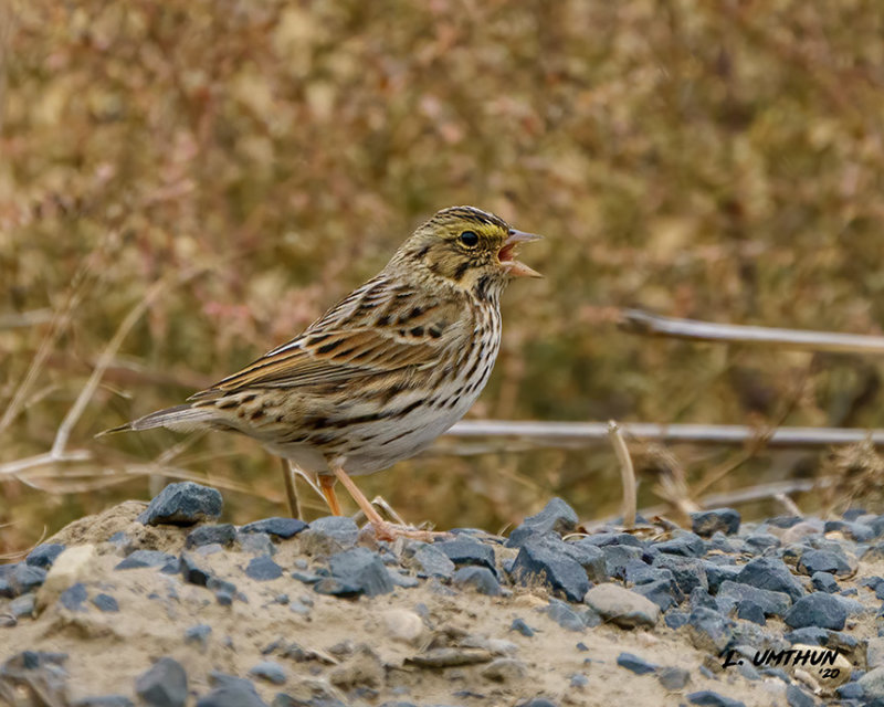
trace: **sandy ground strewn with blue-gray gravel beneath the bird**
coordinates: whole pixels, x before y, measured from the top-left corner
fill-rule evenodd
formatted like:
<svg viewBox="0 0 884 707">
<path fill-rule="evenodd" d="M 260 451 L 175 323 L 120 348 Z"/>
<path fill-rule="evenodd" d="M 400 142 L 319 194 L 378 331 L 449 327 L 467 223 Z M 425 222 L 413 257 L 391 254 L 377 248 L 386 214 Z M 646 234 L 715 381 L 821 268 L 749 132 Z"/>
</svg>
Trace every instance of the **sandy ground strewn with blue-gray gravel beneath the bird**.
<svg viewBox="0 0 884 707">
<path fill-rule="evenodd" d="M 884 516 L 377 542 L 172 484 L 0 566 L 0 704 L 884 705 Z"/>
</svg>

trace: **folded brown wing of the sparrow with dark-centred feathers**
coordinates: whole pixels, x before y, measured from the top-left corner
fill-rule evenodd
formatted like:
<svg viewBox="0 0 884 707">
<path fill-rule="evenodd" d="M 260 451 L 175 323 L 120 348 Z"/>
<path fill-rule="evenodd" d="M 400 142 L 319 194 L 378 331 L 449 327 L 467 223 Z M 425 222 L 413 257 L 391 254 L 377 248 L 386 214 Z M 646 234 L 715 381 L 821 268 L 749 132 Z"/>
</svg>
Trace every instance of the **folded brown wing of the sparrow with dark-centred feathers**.
<svg viewBox="0 0 884 707">
<path fill-rule="evenodd" d="M 190 400 L 248 388 L 359 384 L 401 369 L 431 368 L 463 328 L 454 303 L 417 304 L 412 298 L 392 308 L 383 306 L 388 298 L 375 302 L 368 295 L 370 306 L 360 307 L 360 298 L 351 295 L 304 334 Z"/>
</svg>

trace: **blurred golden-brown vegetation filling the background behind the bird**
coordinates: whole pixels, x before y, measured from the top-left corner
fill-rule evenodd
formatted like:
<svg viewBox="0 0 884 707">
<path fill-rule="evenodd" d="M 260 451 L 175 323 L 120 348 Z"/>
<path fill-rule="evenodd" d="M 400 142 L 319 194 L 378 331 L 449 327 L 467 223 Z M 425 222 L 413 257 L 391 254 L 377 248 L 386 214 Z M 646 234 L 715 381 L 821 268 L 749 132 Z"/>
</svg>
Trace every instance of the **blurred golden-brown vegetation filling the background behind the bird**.
<svg viewBox="0 0 884 707">
<path fill-rule="evenodd" d="M 884 6 L 861 1 L 7 2 L 0 552 L 164 479 L 225 489 L 233 521 L 284 515 L 278 463 L 248 439 L 93 435 L 287 340 L 453 204 L 547 236 L 471 418 L 884 425 L 875 359 L 614 324 L 636 306 L 881 331 L 882 35 Z M 443 528 L 498 530 L 554 495 L 619 511 L 609 446 L 491 447 L 360 485 Z M 640 507 L 711 469 L 727 493 L 862 456 L 631 450 Z"/>
</svg>

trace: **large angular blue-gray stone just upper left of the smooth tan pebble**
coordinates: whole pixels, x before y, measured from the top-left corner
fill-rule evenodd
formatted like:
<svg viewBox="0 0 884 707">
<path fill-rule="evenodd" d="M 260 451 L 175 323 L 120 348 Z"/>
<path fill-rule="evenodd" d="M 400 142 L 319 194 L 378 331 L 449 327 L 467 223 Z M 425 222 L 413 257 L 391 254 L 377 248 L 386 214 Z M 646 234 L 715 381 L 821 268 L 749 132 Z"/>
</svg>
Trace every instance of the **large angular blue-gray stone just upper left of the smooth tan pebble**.
<svg viewBox="0 0 884 707">
<path fill-rule="evenodd" d="M 522 584 L 543 581 L 570 601 L 583 601 L 589 580 L 583 567 L 568 552 L 561 540 L 540 536 L 526 541 L 513 563 L 513 577 Z"/>
</svg>

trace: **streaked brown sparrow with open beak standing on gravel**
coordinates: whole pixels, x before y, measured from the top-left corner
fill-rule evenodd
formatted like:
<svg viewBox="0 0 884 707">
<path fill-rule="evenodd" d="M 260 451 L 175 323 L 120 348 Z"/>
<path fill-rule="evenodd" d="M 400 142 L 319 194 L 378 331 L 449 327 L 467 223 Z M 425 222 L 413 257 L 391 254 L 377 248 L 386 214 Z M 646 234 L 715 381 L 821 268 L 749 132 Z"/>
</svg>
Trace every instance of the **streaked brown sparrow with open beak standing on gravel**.
<svg viewBox="0 0 884 707">
<path fill-rule="evenodd" d="M 292 340 L 183 404 L 102 434 L 239 432 L 285 460 L 334 515 L 340 482 L 377 538 L 421 537 L 383 520 L 350 477 L 418 454 L 472 407 L 501 347 L 502 293 L 541 277 L 517 251 L 540 238 L 475 207 L 443 209 Z"/>
</svg>

